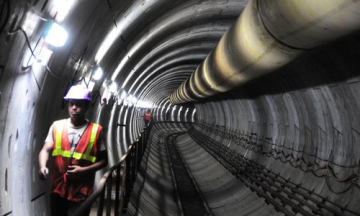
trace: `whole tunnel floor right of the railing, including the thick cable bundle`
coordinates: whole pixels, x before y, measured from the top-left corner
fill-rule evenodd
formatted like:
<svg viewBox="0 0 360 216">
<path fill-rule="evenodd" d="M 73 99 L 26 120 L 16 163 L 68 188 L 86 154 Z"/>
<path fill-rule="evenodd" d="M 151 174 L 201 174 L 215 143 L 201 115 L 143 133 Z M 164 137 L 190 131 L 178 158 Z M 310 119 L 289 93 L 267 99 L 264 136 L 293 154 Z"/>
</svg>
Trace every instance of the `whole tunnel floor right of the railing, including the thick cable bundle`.
<svg viewBox="0 0 360 216">
<path fill-rule="evenodd" d="M 154 124 L 127 213 L 358 215 L 239 153 L 252 139 L 231 145 L 229 134 L 216 133 L 197 124 Z"/>
</svg>

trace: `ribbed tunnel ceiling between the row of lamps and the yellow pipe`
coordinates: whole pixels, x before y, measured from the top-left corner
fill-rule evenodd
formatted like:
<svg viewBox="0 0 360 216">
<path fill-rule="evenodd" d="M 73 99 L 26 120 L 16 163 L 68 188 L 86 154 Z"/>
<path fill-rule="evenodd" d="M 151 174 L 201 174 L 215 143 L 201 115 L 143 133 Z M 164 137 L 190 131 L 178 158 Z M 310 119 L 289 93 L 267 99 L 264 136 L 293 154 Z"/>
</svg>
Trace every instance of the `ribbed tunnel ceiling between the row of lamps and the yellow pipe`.
<svg viewBox="0 0 360 216">
<path fill-rule="evenodd" d="M 246 3 L 79 2 L 64 21 L 73 44 L 67 68 L 56 73 L 69 76 L 77 67 L 80 78 L 97 64 L 105 72 L 98 86 L 105 87 L 112 80 L 141 100 L 160 103 L 195 71 Z M 77 29 L 76 35 L 73 29 Z"/>
</svg>

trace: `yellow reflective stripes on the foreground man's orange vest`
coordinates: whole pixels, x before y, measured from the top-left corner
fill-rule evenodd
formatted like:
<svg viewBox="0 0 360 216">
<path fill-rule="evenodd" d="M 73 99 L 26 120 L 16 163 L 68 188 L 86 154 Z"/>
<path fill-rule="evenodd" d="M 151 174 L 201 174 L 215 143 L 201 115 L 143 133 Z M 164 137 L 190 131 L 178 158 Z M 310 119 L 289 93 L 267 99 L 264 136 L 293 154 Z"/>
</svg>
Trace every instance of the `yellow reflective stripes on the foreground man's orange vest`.
<svg viewBox="0 0 360 216">
<path fill-rule="evenodd" d="M 66 158 L 71 158 L 71 152 L 70 151 L 65 151 L 62 150 L 61 148 L 61 137 L 62 137 L 62 131 L 63 131 L 63 127 L 65 124 L 62 124 L 61 128 L 56 128 L 55 131 L 55 149 L 52 152 L 52 156 L 62 156 L 62 157 L 66 157 Z M 77 160 L 87 160 L 87 161 L 91 161 L 91 162 L 95 162 L 96 161 L 96 157 L 91 156 L 91 150 L 94 146 L 94 141 L 96 139 L 96 134 L 97 134 L 97 130 L 99 128 L 98 124 L 93 124 L 93 128 L 91 130 L 91 135 L 90 135 L 90 140 L 88 143 L 88 146 L 86 148 L 86 151 L 84 154 L 79 153 L 79 152 L 74 152 L 72 155 L 72 158 L 77 159 Z M 85 129 L 87 130 L 87 129 Z"/>
</svg>

